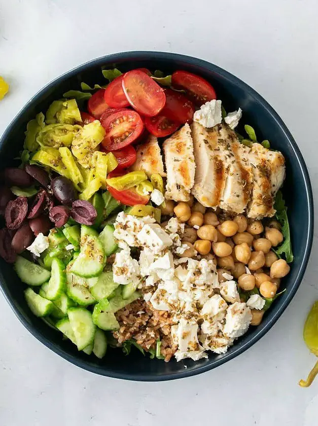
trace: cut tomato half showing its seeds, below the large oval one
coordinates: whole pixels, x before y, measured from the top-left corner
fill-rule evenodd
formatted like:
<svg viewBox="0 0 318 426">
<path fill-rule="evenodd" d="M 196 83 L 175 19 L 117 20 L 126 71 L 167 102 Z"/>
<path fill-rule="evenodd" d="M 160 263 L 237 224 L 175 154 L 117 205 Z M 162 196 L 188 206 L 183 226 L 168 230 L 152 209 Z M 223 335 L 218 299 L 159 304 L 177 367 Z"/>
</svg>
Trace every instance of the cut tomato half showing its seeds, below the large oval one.
<svg viewBox="0 0 318 426">
<path fill-rule="evenodd" d="M 106 131 L 102 145 L 108 151 L 121 150 L 142 134 L 144 123 L 132 110 L 119 111 L 103 122 Z"/>
</svg>

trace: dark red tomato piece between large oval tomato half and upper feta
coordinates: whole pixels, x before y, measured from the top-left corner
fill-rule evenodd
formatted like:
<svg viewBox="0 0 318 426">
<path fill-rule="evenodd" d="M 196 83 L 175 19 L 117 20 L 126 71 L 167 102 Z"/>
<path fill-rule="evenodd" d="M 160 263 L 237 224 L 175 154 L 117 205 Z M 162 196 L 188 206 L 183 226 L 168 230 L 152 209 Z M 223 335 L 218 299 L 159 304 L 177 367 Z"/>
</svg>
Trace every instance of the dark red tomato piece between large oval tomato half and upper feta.
<svg viewBox="0 0 318 426">
<path fill-rule="evenodd" d="M 166 89 L 166 104 L 161 114 L 172 121 L 179 123 L 191 123 L 195 111 L 194 105 L 184 94 L 175 90 Z"/>
</svg>

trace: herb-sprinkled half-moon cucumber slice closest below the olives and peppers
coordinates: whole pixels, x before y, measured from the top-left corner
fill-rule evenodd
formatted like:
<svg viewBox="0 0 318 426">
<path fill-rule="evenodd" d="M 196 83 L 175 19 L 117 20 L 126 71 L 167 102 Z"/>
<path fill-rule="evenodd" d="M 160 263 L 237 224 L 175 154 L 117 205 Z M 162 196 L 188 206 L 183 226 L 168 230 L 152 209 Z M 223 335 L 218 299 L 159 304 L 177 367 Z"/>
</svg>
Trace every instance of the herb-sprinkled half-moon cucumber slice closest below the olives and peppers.
<svg viewBox="0 0 318 426">
<path fill-rule="evenodd" d="M 104 250 L 98 233 L 88 226 L 81 228 L 81 251 L 71 271 L 84 278 L 98 276 L 104 267 Z"/>
</svg>

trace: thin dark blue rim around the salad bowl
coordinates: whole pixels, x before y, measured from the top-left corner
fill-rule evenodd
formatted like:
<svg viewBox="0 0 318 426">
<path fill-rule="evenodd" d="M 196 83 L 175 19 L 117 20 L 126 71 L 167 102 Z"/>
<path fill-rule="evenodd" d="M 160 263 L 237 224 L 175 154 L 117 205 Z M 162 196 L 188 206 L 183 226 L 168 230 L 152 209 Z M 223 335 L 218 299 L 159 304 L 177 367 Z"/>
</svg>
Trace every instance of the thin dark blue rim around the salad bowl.
<svg viewBox="0 0 318 426">
<path fill-rule="evenodd" d="M 296 276 L 296 279 L 293 282 L 293 285 L 289 291 L 289 293 L 286 295 L 286 298 L 279 306 L 279 309 L 274 313 L 273 316 L 269 318 L 268 324 L 260 330 L 258 333 L 255 334 L 249 341 L 245 342 L 244 344 L 234 346 L 234 350 L 231 353 L 225 354 L 225 356 L 219 360 L 215 360 L 213 364 L 205 365 L 205 366 L 198 366 L 195 370 L 187 370 L 184 369 L 184 371 L 179 373 L 166 373 L 162 374 L 160 376 L 156 374 L 139 374 L 135 376 L 132 373 L 118 373 L 112 371 L 110 368 L 105 369 L 99 369 L 95 366 L 90 365 L 89 363 L 74 359 L 74 356 L 72 354 L 69 354 L 62 348 L 56 347 L 52 341 L 47 339 L 45 335 L 43 335 L 40 331 L 35 329 L 31 324 L 28 323 L 27 319 L 24 317 L 24 315 L 17 309 L 15 306 L 14 301 L 9 297 L 9 294 L 5 291 L 3 287 L 3 282 L 0 280 L 0 288 L 2 290 L 2 293 L 5 296 L 5 299 L 11 306 L 12 310 L 18 317 L 19 321 L 24 325 L 24 327 L 34 336 L 36 337 L 41 343 L 43 343 L 45 346 L 47 346 L 49 349 L 51 349 L 53 352 L 57 353 L 59 356 L 64 358 L 66 361 L 72 363 L 73 365 L 76 365 L 78 367 L 83 368 L 84 370 L 90 371 L 95 374 L 99 374 L 102 376 L 112 377 L 112 378 L 118 378 L 118 379 L 126 379 L 126 380 L 134 380 L 134 381 L 164 381 L 164 380 L 174 380 L 179 378 L 185 378 L 190 376 L 195 376 L 197 374 L 212 370 L 222 364 L 225 364 L 226 362 L 234 359 L 239 354 L 243 353 L 246 349 L 253 346 L 258 340 L 260 340 L 276 323 L 278 318 L 281 316 L 281 314 L 285 311 L 287 306 L 292 301 L 293 297 L 295 296 L 301 280 L 304 276 L 305 269 L 307 267 L 307 263 L 309 260 L 311 247 L 312 247 L 312 239 L 313 239 L 313 195 L 312 195 L 312 188 L 310 183 L 310 177 L 307 170 L 307 166 L 305 164 L 304 158 L 300 152 L 300 149 L 298 148 L 295 139 L 293 138 L 291 132 L 288 130 L 285 123 L 282 121 L 280 116 L 276 113 L 276 111 L 271 107 L 271 105 L 258 93 L 256 90 L 254 90 L 252 87 L 250 87 L 248 84 L 244 83 L 242 80 L 234 76 L 233 74 L 229 73 L 225 69 L 219 67 L 218 65 L 215 65 L 211 62 L 208 62 L 203 59 L 195 58 L 193 56 L 178 54 L 178 53 L 171 53 L 171 52 L 159 52 L 159 51 L 127 51 L 127 52 L 119 52 L 119 53 L 113 53 L 109 55 L 100 56 L 98 58 L 92 59 L 90 61 L 84 62 L 79 66 L 76 66 L 67 72 L 63 73 L 59 77 L 55 78 L 54 80 L 47 83 L 42 89 L 40 89 L 36 94 L 34 94 L 28 102 L 21 108 L 21 110 L 17 113 L 15 118 L 11 121 L 11 123 L 8 125 L 6 130 L 4 131 L 2 137 L 0 138 L 0 147 L 4 143 L 4 140 L 8 137 L 10 132 L 12 131 L 12 128 L 15 126 L 16 122 L 20 118 L 21 115 L 23 115 L 28 108 L 30 108 L 30 105 L 32 103 L 36 103 L 37 99 L 44 94 L 47 90 L 54 88 L 55 85 L 59 84 L 60 82 L 68 79 L 69 77 L 72 77 L 75 74 L 80 73 L 83 70 L 86 70 L 90 66 L 98 66 L 98 65 L 104 65 L 105 62 L 116 62 L 117 60 L 129 60 L 129 59 L 138 59 L 138 60 L 147 60 L 147 59 L 158 59 L 158 60 L 167 60 L 167 61 L 183 61 L 190 65 L 200 66 L 202 68 L 205 68 L 211 72 L 216 72 L 220 76 L 222 76 L 225 80 L 234 81 L 235 84 L 240 86 L 242 89 L 244 89 L 245 92 L 247 92 L 252 98 L 260 102 L 263 107 L 266 109 L 267 113 L 270 114 L 271 118 L 276 121 L 278 126 L 281 128 L 281 130 L 284 132 L 286 139 L 288 140 L 290 146 L 292 147 L 295 157 L 298 161 L 302 179 L 305 183 L 305 189 L 306 189 L 306 198 L 308 206 L 308 232 L 306 235 L 306 242 L 305 242 L 305 251 L 304 255 L 299 267 L 298 274 Z M 105 366 L 107 367 L 107 366 Z"/>
</svg>

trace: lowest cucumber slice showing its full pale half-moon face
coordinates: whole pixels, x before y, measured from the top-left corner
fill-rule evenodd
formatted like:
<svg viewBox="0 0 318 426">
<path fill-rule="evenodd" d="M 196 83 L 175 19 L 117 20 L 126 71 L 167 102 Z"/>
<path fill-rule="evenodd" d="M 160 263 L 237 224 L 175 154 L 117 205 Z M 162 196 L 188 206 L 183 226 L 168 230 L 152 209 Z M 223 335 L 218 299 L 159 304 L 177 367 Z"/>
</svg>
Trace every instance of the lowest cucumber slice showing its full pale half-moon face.
<svg viewBox="0 0 318 426">
<path fill-rule="evenodd" d="M 79 350 L 83 350 L 94 342 L 96 326 L 93 323 L 92 314 L 85 308 L 69 308 L 67 315 L 77 347 Z"/>
</svg>

